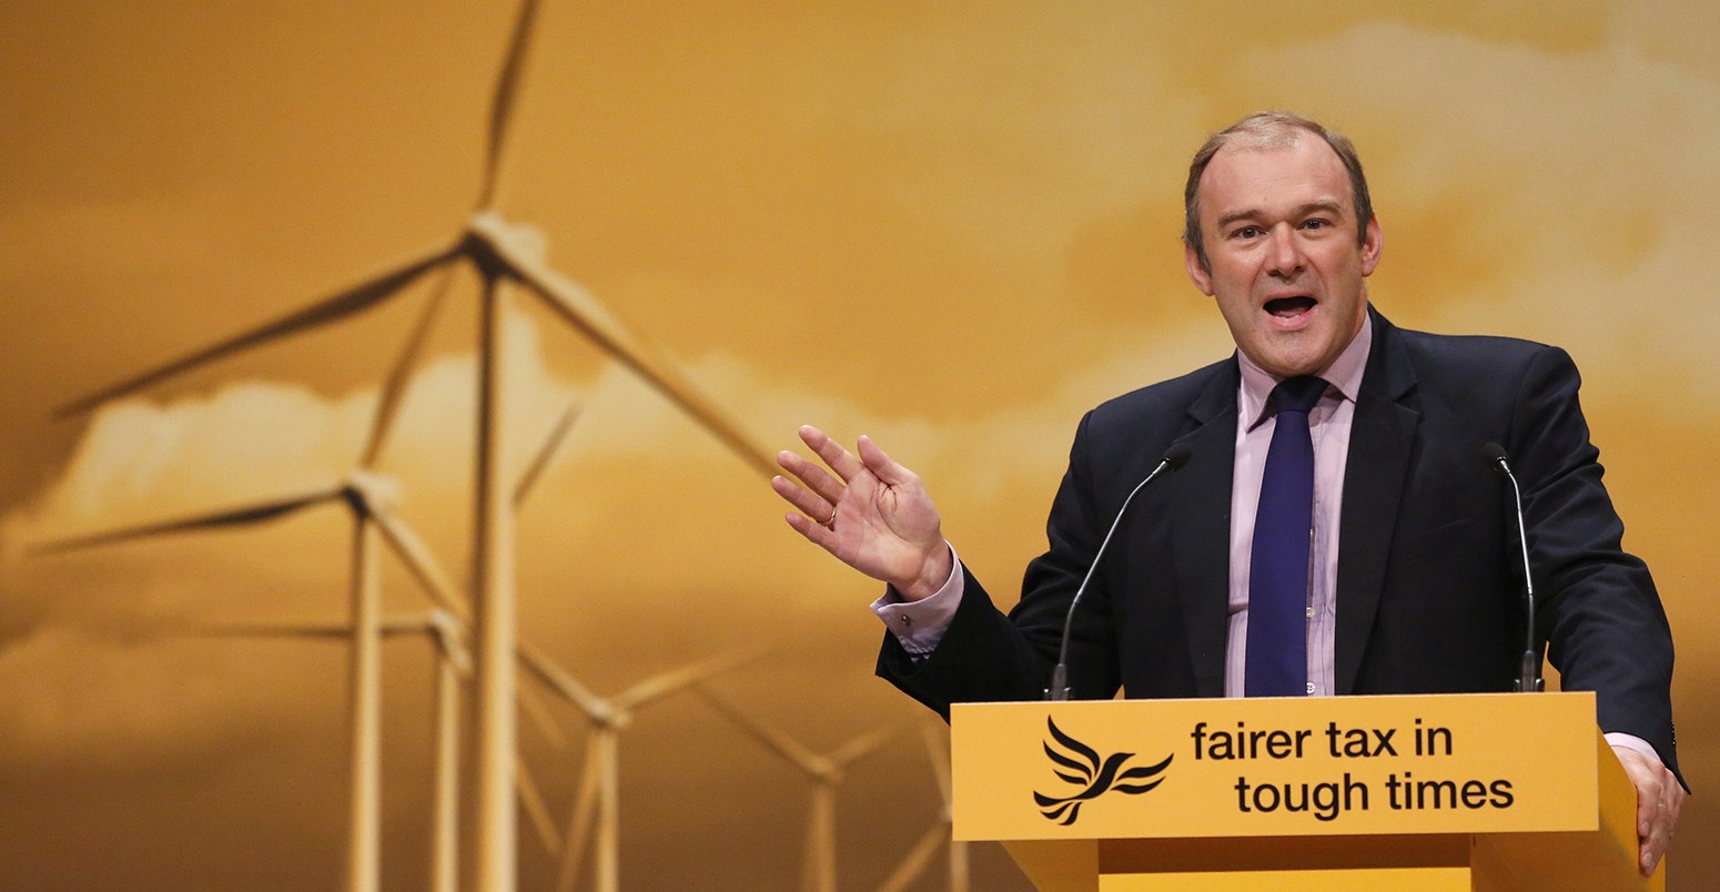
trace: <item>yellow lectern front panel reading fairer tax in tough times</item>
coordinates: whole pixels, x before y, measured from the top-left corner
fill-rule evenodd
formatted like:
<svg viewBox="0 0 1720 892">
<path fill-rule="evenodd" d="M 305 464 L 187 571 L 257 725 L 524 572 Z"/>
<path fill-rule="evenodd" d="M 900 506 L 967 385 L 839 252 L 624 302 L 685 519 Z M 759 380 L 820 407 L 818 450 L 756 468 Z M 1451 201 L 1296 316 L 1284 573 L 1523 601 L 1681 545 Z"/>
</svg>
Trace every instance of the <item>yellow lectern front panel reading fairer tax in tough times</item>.
<svg viewBox="0 0 1720 892">
<path fill-rule="evenodd" d="M 1594 828 L 1594 698 L 956 705 L 956 839 Z"/>
</svg>

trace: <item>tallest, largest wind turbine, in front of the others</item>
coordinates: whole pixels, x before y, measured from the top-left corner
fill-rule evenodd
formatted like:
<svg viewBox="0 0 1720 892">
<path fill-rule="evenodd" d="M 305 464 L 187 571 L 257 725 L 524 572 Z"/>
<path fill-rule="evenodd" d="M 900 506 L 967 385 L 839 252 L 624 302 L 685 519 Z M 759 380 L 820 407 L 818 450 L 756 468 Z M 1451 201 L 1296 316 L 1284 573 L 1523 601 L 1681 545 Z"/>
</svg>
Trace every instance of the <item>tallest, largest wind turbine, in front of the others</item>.
<svg viewBox="0 0 1720 892">
<path fill-rule="evenodd" d="M 468 261 L 480 275 L 480 333 L 478 333 L 478 418 L 473 478 L 473 614 L 475 614 L 475 784 L 473 784 L 473 878 L 482 892 L 509 890 L 516 883 L 514 834 L 514 643 L 516 643 L 516 591 L 514 591 L 514 538 L 509 493 L 502 483 L 502 333 L 511 311 L 502 285 L 518 285 L 538 299 L 550 313 L 590 339 L 612 359 L 645 378 L 664 397 L 698 421 L 707 431 L 734 450 L 745 462 L 767 476 L 776 473 L 772 452 L 762 449 L 745 430 L 698 388 L 666 357 L 624 328 L 583 287 L 564 278 L 544 258 L 540 234 L 530 227 L 509 223 L 495 210 L 502 182 L 502 160 L 509 125 L 518 98 L 521 72 L 531 33 L 537 22 L 537 0 L 523 0 L 514 22 L 507 55 L 497 77 L 490 103 L 483 180 L 476 211 L 449 244 L 430 247 L 418 256 L 390 266 L 378 275 L 341 289 L 320 301 L 292 311 L 273 321 L 241 332 L 205 349 L 170 359 L 120 383 L 86 395 L 65 406 L 60 414 L 76 414 L 96 406 L 136 394 L 184 371 L 201 368 L 217 359 L 239 354 L 273 340 L 330 325 L 358 313 L 373 309 L 399 296 L 418 278 L 444 272 L 402 352 L 396 375 L 385 387 L 384 400 L 394 399 L 411 363 L 416 361 L 442 294 L 447 272 L 456 261 Z M 392 418 L 392 407 L 384 421 Z M 387 425 L 384 423 L 382 431 Z M 366 553 L 368 536 L 363 528 L 356 552 Z M 361 564 L 368 565 L 368 564 Z M 370 571 L 363 571 L 370 572 Z M 366 620 L 368 622 L 368 620 Z M 365 622 L 354 622 L 354 636 L 365 634 Z M 354 866 L 354 871 L 368 870 Z"/>
</svg>

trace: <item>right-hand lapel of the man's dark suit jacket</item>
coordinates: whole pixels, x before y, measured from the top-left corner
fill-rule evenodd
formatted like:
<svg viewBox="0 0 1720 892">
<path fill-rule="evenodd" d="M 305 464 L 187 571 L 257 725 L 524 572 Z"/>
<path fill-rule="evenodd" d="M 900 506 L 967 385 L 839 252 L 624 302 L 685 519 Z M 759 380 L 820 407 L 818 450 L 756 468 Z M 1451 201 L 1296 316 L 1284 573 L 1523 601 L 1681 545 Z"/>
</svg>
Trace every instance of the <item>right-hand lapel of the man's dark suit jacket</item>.
<svg viewBox="0 0 1720 892">
<path fill-rule="evenodd" d="M 1374 344 L 1355 399 L 1343 473 L 1343 519 L 1338 522 L 1338 694 L 1355 693 L 1367 634 L 1379 610 L 1386 555 L 1421 423 L 1421 412 L 1409 400 L 1414 387 L 1416 371 L 1397 330 L 1374 313 Z"/>
</svg>

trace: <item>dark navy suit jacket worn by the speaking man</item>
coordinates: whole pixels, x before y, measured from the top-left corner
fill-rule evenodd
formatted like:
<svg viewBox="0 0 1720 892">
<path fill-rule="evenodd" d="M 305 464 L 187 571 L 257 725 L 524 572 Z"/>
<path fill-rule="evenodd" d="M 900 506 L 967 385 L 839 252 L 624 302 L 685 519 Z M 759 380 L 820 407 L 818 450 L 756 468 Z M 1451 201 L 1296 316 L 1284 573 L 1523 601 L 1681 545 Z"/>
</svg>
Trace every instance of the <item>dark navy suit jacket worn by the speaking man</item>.
<svg viewBox="0 0 1720 892">
<path fill-rule="evenodd" d="M 1373 313 L 1373 309 L 1369 309 Z M 1624 524 L 1565 351 L 1395 328 L 1374 313 L 1338 531 L 1336 693 L 1508 691 L 1524 651 L 1522 559 L 1502 443 L 1524 490 L 1538 634 L 1603 730 L 1677 772 L 1672 634 Z M 1035 559 L 1008 615 L 972 574 L 937 650 L 884 634 L 879 674 L 948 717 L 953 701 L 1037 700 L 1063 617 L 1123 498 L 1175 442 L 1187 466 L 1137 497 L 1082 598 L 1077 698 L 1223 696 L 1230 602 L 1235 357 L 1113 399 L 1082 419 Z M 967 571 L 963 571 L 967 572 Z"/>
</svg>

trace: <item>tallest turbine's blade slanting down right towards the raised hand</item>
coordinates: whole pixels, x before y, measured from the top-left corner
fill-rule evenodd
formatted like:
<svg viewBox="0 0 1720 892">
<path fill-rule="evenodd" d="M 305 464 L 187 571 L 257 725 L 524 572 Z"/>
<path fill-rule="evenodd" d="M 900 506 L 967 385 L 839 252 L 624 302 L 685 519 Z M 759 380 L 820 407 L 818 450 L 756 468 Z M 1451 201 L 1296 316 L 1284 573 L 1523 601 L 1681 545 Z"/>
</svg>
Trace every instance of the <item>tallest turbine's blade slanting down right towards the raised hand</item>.
<svg viewBox="0 0 1720 892">
<path fill-rule="evenodd" d="M 533 251 L 516 244 L 518 237 L 499 222 L 485 223 L 478 220 L 476 223 L 482 229 L 480 235 L 490 241 L 492 249 L 507 263 L 514 278 L 537 294 L 550 311 L 583 332 L 585 337 L 592 339 L 599 349 L 612 356 L 617 363 L 645 378 L 647 383 L 698 421 L 740 455 L 741 461 L 764 471 L 765 476 L 776 476 L 776 452 L 759 445 L 741 428 L 738 419 L 717 407 L 674 364 L 628 332 L 621 321 L 609 315 L 597 297 L 573 280 L 550 270 L 537 260 Z"/>
</svg>

